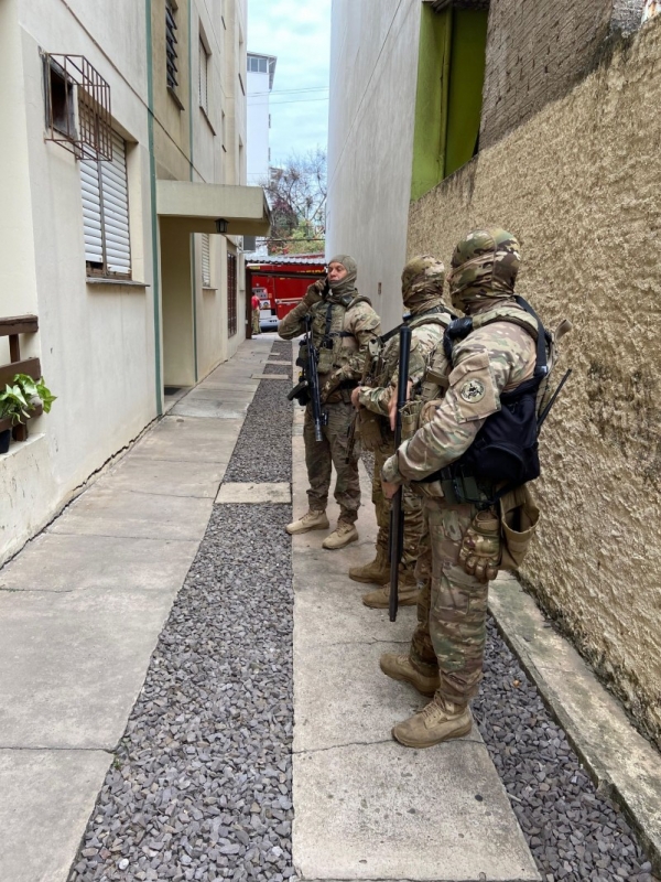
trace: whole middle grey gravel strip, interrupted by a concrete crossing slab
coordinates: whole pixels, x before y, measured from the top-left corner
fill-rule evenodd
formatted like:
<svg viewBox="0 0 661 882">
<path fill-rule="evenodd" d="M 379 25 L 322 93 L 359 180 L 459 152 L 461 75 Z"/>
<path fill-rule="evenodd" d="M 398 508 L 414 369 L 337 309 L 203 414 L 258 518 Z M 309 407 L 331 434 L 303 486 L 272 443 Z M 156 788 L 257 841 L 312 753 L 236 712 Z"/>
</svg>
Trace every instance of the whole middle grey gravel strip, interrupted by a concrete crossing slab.
<svg viewBox="0 0 661 882">
<path fill-rule="evenodd" d="M 289 480 L 292 406 L 272 387 L 258 388 L 246 465 L 235 451 L 226 481 Z M 291 515 L 214 507 L 69 882 L 295 879 Z"/>
</svg>

